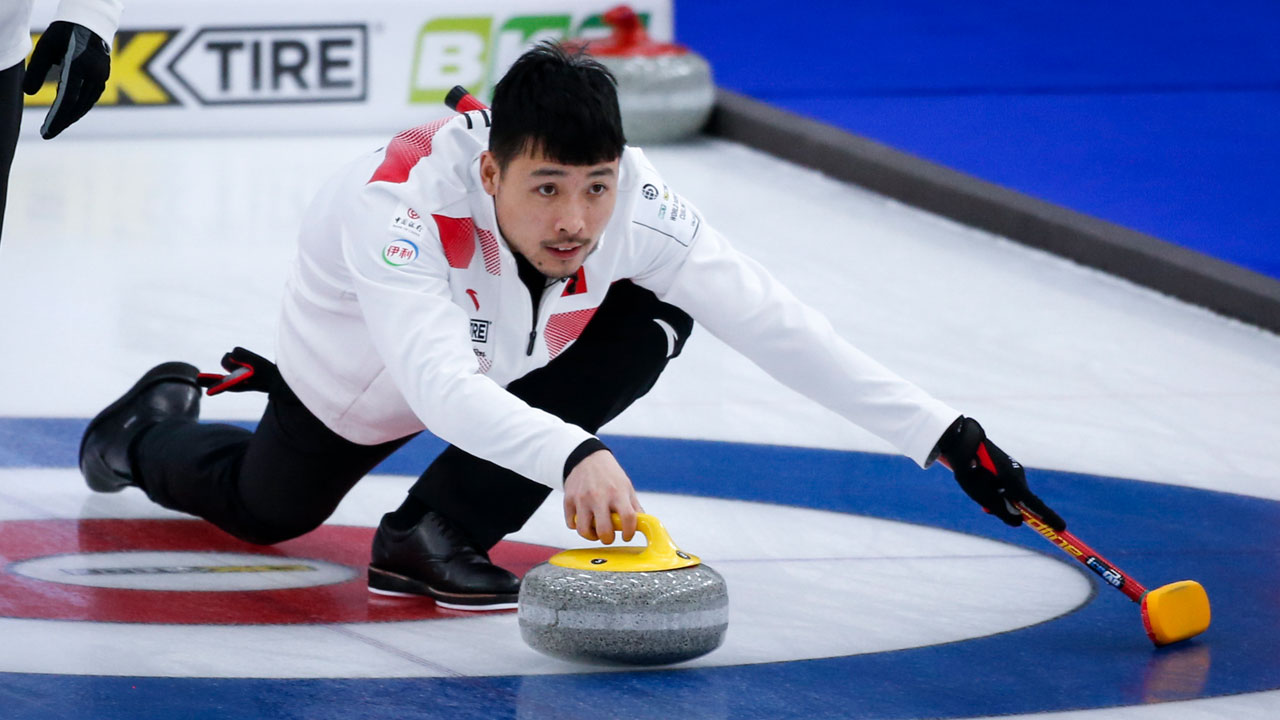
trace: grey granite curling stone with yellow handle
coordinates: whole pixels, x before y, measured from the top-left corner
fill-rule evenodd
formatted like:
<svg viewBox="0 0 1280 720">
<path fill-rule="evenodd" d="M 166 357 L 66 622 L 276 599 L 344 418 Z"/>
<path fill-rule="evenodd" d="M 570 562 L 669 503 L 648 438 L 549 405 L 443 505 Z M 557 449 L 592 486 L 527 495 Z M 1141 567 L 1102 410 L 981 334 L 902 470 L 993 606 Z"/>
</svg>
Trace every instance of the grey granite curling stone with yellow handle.
<svg viewBox="0 0 1280 720">
<path fill-rule="evenodd" d="M 577 662 L 667 665 L 724 642 L 724 578 L 678 550 L 653 515 L 637 524 L 645 547 L 566 550 L 525 574 L 518 616 L 530 647 Z"/>
</svg>

